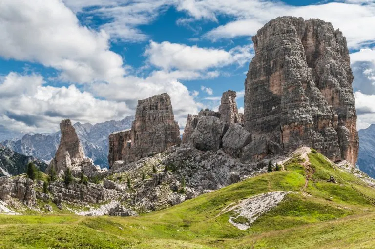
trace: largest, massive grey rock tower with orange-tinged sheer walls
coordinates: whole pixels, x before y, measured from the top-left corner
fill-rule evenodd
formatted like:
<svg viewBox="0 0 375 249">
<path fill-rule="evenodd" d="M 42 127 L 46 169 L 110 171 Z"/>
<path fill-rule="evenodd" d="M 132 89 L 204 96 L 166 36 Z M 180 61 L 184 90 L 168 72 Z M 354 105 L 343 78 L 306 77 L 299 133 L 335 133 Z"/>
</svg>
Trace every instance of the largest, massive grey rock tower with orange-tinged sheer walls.
<svg viewBox="0 0 375 249">
<path fill-rule="evenodd" d="M 358 134 L 346 40 L 330 23 L 283 17 L 252 38 L 245 128 L 287 153 L 311 146 L 353 165 Z"/>
</svg>

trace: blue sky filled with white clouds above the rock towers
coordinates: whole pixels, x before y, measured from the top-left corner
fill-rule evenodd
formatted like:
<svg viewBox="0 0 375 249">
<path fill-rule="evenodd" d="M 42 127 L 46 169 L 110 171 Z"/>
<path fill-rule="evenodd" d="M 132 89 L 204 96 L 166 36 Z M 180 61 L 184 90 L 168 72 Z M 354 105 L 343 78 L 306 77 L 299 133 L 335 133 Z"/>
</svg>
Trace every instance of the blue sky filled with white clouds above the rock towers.
<svg viewBox="0 0 375 249">
<path fill-rule="evenodd" d="M 49 132 L 62 118 L 133 115 L 138 99 L 167 92 L 175 118 L 242 110 L 251 36 L 283 15 L 320 18 L 348 41 L 358 128 L 375 123 L 373 0 L 2 0 L 0 124 Z"/>
</svg>

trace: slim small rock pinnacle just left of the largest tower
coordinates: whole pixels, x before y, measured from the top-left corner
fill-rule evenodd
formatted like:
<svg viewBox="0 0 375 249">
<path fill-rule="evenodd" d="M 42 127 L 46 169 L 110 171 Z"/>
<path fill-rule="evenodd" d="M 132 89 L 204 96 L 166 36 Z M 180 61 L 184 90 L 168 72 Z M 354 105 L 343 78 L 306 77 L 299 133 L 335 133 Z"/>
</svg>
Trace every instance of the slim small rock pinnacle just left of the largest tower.
<svg viewBox="0 0 375 249">
<path fill-rule="evenodd" d="M 235 91 L 228 90 L 223 93 L 219 107 L 220 120 L 229 124 L 243 123 L 242 116 L 238 113 L 237 103 L 235 98 L 237 94 Z"/>
</svg>

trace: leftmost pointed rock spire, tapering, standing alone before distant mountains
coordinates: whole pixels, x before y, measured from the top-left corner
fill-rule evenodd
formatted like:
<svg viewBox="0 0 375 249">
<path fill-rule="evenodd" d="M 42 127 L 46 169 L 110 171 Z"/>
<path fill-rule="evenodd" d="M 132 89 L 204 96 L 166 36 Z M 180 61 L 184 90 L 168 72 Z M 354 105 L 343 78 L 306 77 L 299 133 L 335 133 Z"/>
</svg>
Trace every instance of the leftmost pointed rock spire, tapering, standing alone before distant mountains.
<svg viewBox="0 0 375 249">
<path fill-rule="evenodd" d="M 60 145 L 56 151 L 55 158 L 48 166 L 48 170 L 54 167 L 55 171 L 58 173 L 64 171 L 66 167 L 70 168 L 72 160 L 74 162 L 81 162 L 85 158 L 81 142 L 78 139 L 76 129 L 73 127 L 70 119 L 61 121 L 60 130 Z"/>
</svg>

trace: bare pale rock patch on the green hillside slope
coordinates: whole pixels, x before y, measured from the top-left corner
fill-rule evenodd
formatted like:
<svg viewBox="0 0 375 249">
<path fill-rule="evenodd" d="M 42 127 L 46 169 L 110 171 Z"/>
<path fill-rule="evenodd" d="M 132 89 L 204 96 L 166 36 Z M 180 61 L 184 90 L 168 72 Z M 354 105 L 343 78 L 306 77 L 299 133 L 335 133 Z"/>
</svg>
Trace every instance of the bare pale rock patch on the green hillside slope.
<svg viewBox="0 0 375 249">
<path fill-rule="evenodd" d="M 236 216 L 229 216 L 229 222 L 240 230 L 247 230 L 260 215 L 277 206 L 288 193 L 290 192 L 275 191 L 258 194 L 232 207 L 227 206 L 223 213 L 234 211 Z M 248 222 L 237 223 L 236 219 L 239 218 Z"/>
</svg>

